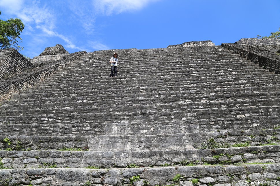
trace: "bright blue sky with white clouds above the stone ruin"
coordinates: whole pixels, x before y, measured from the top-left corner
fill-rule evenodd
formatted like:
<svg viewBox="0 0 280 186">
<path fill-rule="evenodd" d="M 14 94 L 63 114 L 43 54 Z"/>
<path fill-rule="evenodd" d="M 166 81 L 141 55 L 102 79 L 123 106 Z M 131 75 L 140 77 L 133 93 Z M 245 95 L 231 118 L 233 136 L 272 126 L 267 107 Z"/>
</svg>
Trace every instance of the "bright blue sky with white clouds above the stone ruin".
<svg viewBox="0 0 280 186">
<path fill-rule="evenodd" d="M 56 44 L 70 53 L 221 45 L 280 27 L 280 0 L 0 0 L 0 11 L 25 24 L 20 53 L 31 58 Z"/>
</svg>

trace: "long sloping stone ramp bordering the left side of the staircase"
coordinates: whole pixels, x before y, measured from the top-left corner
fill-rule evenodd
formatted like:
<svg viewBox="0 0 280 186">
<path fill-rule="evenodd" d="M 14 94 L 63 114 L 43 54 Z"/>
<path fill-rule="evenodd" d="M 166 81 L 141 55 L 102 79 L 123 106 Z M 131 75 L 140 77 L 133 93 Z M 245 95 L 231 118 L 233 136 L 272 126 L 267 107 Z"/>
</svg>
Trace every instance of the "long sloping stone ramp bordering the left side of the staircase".
<svg viewBox="0 0 280 186">
<path fill-rule="evenodd" d="M 8 99 L 12 94 L 22 90 L 27 90 L 28 87 L 35 86 L 39 81 L 44 80 L 50 74 L 53 74 L 62 68 L 68 66 L 71 62 L 79 58 L 86 52 L 76 52 L 67 56 L 65 59 L 48 64 L 46 66 L 33 68 L 27 72 L 13 76 L 9 79 L 0 81 L 0 101 Z"/>
</svg>

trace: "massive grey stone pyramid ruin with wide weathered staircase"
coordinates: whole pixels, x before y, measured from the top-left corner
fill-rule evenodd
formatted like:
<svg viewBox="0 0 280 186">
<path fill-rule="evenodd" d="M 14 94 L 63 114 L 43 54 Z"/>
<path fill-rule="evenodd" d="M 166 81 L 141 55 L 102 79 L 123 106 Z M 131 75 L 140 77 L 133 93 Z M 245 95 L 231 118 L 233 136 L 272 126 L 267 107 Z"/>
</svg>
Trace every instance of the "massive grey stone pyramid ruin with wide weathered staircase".
<svg viewBox="0 0 280 186">
<path fill-rule="evenodd" d="M 0 50 L 0 186 L 279 185 L 279 41 Z"/>
</svg>

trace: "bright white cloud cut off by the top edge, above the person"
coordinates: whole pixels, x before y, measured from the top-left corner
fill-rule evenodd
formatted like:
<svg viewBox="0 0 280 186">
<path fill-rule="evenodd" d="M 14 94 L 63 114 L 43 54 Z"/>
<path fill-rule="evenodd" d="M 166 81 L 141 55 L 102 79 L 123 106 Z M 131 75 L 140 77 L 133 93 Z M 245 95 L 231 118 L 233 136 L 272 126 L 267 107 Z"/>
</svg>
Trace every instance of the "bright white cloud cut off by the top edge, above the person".
<svg viewBox="0 0 280 186">
<path fill-rule="evenodd" d="M 155 1 L 159 0 L 94 0 L 94 7 L 98 13 L 112 15 L 138 10 Z"/>
</svg>

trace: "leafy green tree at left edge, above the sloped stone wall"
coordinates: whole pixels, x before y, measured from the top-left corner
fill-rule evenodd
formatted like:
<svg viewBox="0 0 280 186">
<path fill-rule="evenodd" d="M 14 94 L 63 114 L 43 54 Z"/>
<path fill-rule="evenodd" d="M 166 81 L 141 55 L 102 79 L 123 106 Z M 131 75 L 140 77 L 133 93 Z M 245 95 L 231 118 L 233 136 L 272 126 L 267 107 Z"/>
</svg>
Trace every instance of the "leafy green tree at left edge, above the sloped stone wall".
<svg viewBox="0 0 280 186">
<path fill-rule="evenodd" d="M 23 47 L 18 45 L 18 39 L 22 40 L 19 36 L 23 28 L 24 24 L 20 19 L 0 20 L 0 49 L 15 48 L 23 50 Z"/>
</svg>

